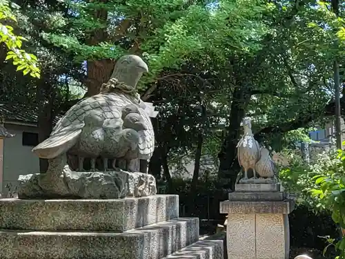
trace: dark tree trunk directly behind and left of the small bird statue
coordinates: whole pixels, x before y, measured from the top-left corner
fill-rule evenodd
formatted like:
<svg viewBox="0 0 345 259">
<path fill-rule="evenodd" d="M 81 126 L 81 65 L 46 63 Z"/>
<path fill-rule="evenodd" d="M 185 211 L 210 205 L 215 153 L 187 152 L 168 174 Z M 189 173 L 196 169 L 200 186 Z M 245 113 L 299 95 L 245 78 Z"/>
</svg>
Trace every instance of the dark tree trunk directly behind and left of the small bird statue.
<svg viewBox="0 0 345 259">
<path fill-rule="evenodd" d="M 250 90 L 237 87 L 233 93 L 230 119 L 227 135 L 218 154 L 219 170 L 218 179 L 224 182 L 224 187 L 234 190 L 239 164 L 236 160 L 237 142 L 239 140 L 241 122 L 246 114 L 246 108 L 250 101 Z"/>
</svg>

